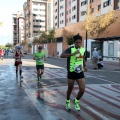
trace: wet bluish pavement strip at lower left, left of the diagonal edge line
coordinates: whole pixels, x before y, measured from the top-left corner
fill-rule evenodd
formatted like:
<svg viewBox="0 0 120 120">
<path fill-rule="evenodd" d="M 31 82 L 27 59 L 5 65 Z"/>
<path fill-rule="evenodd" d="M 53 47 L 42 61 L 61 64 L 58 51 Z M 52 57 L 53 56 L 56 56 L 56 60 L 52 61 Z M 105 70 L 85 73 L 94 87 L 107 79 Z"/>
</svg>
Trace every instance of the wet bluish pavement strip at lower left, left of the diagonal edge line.
<svg viewBox="0 0 120 120">
<path fill-rule="evenodd" d="M 0 120 L 43 120 L 24 89 L 16 80 L 13 64 L 1 61 Z"/>
</svg>

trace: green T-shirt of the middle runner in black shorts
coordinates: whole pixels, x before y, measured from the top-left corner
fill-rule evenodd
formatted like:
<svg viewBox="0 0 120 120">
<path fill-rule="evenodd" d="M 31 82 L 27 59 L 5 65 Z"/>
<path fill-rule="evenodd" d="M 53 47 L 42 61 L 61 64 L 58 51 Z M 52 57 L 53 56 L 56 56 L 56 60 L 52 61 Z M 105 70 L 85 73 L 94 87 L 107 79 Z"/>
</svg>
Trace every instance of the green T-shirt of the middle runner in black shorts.
<svg viewBox="0 0 120 120">
<path fill-rule="evenodd" d="M 43 65 L 44 64 L 45 53 L 43 51 L 36 52 L 34 54 L 34 57 L 36 58 L 36 65 Z"/>
</svg>

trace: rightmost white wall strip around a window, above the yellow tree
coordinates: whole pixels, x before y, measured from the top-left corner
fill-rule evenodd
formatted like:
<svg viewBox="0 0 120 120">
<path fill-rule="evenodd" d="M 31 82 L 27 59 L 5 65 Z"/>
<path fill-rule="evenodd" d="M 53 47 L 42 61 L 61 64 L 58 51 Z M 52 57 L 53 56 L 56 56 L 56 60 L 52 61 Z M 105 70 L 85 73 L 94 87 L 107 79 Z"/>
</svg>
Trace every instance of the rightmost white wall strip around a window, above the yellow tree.
<svg viewBox="0 0 120 120">
<path fill-rule="evenodd" d="M 101 14 L 105 14 L 114 8 L 114 0 L 110 0 L 110 5 L 103 7 L 103 3 L 108 0 L 101 0 Z"/>
</svg>

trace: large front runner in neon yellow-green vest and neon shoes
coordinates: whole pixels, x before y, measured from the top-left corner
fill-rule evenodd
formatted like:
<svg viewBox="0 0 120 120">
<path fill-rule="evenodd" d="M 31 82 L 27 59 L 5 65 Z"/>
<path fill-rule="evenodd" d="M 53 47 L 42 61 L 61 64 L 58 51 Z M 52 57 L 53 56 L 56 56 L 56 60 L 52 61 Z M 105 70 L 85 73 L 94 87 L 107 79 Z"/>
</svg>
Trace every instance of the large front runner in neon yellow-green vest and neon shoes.
<svg viewBox="0 0 120 120">
<path fill-rule="evenodd" d="M 78 83 L 79 91 L 77 97 L 74 99 L 75 109 L 80 110 L 79 100 L 85 92 L 85 78 L 84 71 L 87 71 L 85 64 L 85 48 L 81 46 L 82 36 L 79 34 L 73 37 L 74 46 L 66 49 L 61 55 L 61 58 L 67 58 L 67 78 L 68 89 L 66 99 L 66 109 L 71 109 L 70 96 L 74 87 L 75 80 Z"/>
</svg>

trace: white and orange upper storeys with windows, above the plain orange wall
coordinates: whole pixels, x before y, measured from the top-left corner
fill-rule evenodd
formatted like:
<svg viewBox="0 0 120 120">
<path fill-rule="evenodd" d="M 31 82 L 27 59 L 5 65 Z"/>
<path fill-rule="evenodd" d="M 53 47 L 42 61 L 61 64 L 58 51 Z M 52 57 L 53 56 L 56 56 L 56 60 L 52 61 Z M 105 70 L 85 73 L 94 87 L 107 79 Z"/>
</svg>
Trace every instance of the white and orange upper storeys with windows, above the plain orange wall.
<svg viewBox="0 0 120 120">
<path fill-rule="evenodd" d="M 119 9 L 120 0 L 55 0 L 54 27 L 57 29 L 84 21 L 88 7 L 98 16 Z"/>
</svg>

